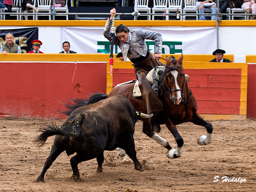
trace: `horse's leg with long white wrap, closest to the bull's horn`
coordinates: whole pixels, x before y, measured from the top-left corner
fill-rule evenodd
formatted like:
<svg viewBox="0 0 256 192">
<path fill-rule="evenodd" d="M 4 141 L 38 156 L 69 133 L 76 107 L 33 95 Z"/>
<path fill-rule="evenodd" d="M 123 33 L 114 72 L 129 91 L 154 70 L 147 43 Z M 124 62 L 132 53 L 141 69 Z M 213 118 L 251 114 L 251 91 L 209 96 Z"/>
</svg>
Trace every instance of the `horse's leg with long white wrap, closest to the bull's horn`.
<svg viewBox="0 0 256 192">
<path fill-rule="evenodd" d="M 172 146 L 169 145 L 169 143 L 165 139 L 163 139 L 162 137 L 160 137 L 157 134 L 154 134 L 153 130 L 151 129 L 151 126 L 147 122 L 143 122 L 143 133 L 145 133 L 151 139 L 155 140 L 157 143 L 162 145 L 164 148 L 167 148 L 168 150 L 172 149 Z"/>
</svg>

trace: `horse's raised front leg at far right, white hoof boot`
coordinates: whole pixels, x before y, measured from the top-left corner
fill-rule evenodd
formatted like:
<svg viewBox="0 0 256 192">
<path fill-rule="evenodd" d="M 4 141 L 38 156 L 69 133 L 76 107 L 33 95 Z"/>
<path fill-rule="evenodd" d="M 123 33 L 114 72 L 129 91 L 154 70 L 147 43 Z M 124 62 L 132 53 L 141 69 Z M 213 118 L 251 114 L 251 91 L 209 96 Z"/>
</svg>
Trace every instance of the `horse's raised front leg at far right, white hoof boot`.
<svg viewBox="0 0 256 192">
<path fill-rule="evenodd" d="M 207 135 L 201 135 L 198 139 L 199 145 L 207 145 L 212 142 L 212 124 L 204 120 L 198 113 L 195 113 L 192 116 L 190 122 L 194 123 L 195 125 L 204 126 L 207 129 Z"/>
</svg>

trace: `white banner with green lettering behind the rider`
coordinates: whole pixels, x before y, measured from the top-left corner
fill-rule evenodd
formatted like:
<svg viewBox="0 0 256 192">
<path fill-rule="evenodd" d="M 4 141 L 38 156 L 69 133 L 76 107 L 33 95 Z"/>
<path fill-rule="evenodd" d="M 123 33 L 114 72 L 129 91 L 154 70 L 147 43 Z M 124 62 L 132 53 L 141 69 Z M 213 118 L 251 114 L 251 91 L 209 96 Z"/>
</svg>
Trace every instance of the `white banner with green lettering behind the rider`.
<svg viewBox="0 0 256 192">
<path fill-rule="evenodd" d="M 129 27 L 137 29 L 138 27 Z M 103 27 L 61 27 L 61 41 L 70 42 L 70 50 L 77 53 L 109 53 L 110 42 L 103 35 Z M 163 37 L 162 53 L 212 54 L 217 48 L 215 27 L 144 27 Z M 146 40 L 154 53 L 154 41 Z M 114 46 L 114 53 L 120 52 Z"/>
</svg>

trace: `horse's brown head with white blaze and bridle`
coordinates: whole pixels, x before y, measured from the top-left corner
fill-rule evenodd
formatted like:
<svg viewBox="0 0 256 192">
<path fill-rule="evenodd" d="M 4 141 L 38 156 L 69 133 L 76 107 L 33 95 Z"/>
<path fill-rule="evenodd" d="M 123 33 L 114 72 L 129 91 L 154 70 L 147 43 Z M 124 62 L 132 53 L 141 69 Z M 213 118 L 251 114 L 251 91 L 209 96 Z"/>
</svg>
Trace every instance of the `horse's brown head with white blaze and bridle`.
<svg viewBox="0 0 256 192">
<path fill-rule="evenodd" d="M 179 105 L 184 97 L 185 74 L 182 67 L 183 54 L 179 59 L 166 56 L 166 79 L 169 96 L 175 105 Z"/>
</svg>

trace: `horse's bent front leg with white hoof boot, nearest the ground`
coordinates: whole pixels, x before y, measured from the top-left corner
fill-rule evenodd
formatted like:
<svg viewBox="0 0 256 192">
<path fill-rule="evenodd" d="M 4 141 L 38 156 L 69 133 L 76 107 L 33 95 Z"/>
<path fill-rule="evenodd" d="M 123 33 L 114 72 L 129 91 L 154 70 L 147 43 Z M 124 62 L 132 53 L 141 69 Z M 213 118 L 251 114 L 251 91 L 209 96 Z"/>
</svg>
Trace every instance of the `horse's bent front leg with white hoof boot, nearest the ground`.
<svg viewBox="0 0 256 192">
<path fill-rule="evenodd" d="M 168 153 L 168 157 L 170 159 L 175 159 L 175 158 L 178 158 L 181 156 L 183 139 L 180 136 L 179 132 L 177 131 L 176 126 L 173 124 L 173 122 L 170 119 L 167 119 L 165 124 L 166 124 L 166 127 L 171 131 L 173 137 L 175 138 L 175 140 L 177 142 L 177 148 L 171 149 Z"/>
</svg>

